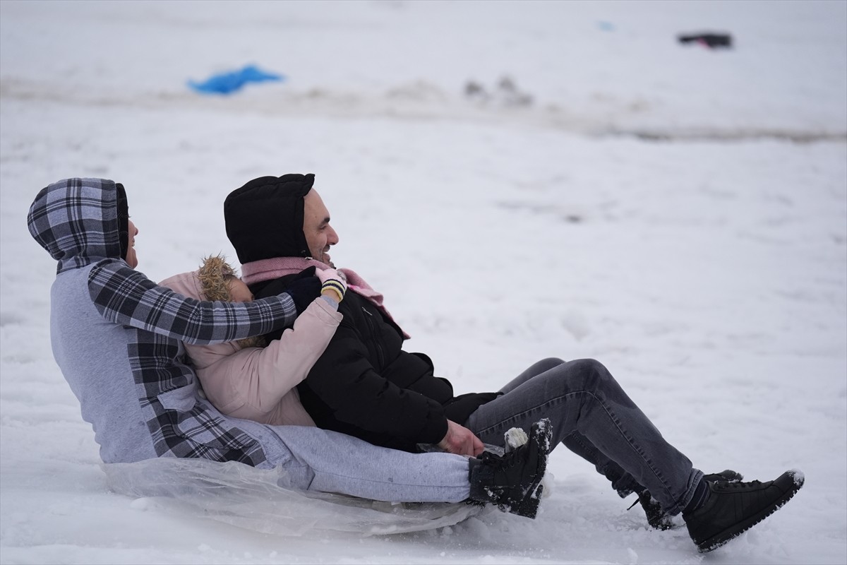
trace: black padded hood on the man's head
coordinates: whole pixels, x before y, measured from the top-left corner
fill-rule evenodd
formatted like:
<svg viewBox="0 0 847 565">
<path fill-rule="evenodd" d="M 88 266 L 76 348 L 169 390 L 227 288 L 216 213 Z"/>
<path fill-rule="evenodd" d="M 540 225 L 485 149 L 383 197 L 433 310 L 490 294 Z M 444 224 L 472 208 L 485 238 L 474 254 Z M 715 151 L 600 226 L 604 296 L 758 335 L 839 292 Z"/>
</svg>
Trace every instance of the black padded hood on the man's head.
<svg viewBox="0 0 847 565">
<path fill-rule="evenodd" d="M 226 235 L 241 264 L 277 257 L 309 257 L 303 235 L 303 197 L 314 174 L 253 179 L 224 200 Z"/>
</svg>

